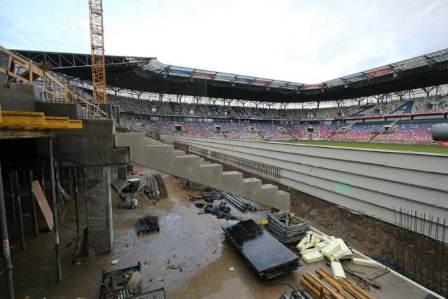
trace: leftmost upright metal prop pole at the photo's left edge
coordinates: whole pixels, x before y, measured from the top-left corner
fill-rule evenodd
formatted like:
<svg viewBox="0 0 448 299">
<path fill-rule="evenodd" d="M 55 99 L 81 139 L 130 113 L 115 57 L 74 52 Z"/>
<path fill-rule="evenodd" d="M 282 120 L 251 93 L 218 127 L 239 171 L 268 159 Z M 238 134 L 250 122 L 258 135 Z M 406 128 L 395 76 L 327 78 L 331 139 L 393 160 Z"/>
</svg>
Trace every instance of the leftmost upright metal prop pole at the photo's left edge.
<svg viewBox="0 0 448 299">
<path fill-rule="evenodd" d="M 6 291 L 8 299 L 14 299 L 13 286 L 13 264 L 11 263 L 11 252 L 8 239 L 8 222 L 6 221 L 5 197 L 3 196 L 3 179 L 1 177 L 0 165 L 0 237 L 3 244 L 3 265 L 5 267 Z"/>
</svg>

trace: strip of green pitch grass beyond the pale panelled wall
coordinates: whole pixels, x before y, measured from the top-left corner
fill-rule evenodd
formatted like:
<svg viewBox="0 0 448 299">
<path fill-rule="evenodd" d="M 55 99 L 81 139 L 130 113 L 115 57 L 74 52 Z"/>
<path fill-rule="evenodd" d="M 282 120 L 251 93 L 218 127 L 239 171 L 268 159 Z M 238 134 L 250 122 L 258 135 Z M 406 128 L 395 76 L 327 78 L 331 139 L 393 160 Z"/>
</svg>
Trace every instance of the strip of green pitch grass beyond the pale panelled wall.
<svg viewBox="0 0 448 299">
<path fill-rule="evenodd" d="M 442 153 L 448 155 L 448 146 L 421 146 L 414 144 L 369 144 L 367 142 L 345 142 L 345 141 L 326 141 L 326 140 L 296 140 L 284 141 L 291 144 L 309 144 L 315 146 L 344 146 L 351 148 L 368 148 L 392 151 L 413 151 L 423 153 Z"/>
</svg>

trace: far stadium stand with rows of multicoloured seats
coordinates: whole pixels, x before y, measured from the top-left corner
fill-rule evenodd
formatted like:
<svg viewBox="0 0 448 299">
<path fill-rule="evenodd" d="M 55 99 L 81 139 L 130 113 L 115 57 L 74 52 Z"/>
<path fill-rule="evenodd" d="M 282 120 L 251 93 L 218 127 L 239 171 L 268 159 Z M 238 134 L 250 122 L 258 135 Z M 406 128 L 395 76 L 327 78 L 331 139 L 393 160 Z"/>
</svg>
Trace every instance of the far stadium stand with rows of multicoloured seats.
<svg viewBox="0 0 448 299">
<path fill-rule="evenodd" d="M 111 102 L 119 104 L 120 111 L 124 113 L 134 113 L 136 115 L 134 118 L 138 118 L 139 114 L 151 118 L 154 116 L 155 120 L 138 120 L 146 130 L 199 138 L 430 142 L 432 141 L 430 130 L 433 125 L 448 122 L 444 115 L 448 113 L 448 95 L 323 109 L 219 106 L 115 96 L 111 96 Z M 437 118 L 424 118 L 434 113 L 438 113 L 434 115 Z M 178 116 L 182 121 L 169 120 Z M 188 117 L 190 118 L 187 119 Z M 198 121 L 187 121 L 195 119 Z M 212 119 L 214 121 L 211 121 Z M 221 121 L 223 119 L 235 121 Z M 329 123 L 335 119 L 339 123 Z M 240 123 L 241 120 L 244 120 L 244 123 Z M 293 120 L 298 121 L 291 123 Z M 396 123 L 393 123 L 394 120 Z M 137 120 L 125 119 L 125 122 L 135 127 L 135 130 L 141 130 L 141 127 L 136 125 Z"/>
</svg>

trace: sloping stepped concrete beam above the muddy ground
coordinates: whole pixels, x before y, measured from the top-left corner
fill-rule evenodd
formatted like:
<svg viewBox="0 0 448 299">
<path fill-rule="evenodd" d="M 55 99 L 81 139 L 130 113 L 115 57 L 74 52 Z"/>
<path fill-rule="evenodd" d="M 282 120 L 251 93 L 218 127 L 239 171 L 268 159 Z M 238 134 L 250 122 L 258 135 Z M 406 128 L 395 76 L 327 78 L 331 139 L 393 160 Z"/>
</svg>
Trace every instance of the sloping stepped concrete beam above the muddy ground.
<svg viewBox="0 0 448 299">
<path fill-rule="evenodd" d="M 243 179 L 240 172 L 223 172 L 223 166 L 205 162 L 197 155 L 187 155 L 174 146 L 146 138 L 144 133 L 116 133 L 115 146 L 129 148 L 130 161 L 160 172 L 201 183 L 239 197 L 288 211 L 289 193 L 255 178 Z"/>
</svg>

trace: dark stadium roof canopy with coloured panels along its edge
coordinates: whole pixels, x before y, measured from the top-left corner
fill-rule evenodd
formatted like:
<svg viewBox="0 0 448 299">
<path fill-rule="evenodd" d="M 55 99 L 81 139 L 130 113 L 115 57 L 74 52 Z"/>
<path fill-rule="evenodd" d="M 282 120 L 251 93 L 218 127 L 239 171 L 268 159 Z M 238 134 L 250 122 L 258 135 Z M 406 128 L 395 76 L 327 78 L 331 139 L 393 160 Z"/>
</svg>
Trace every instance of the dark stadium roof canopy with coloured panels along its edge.
<svg viewBox="0 0 448 299">
<path fill-rule="evenodd" d="M 12 50 L 72 80 L 92 81 L 90 54 Z M 448 48 L 316 84 L 176 67 L 155 57 L 106 55 L 106 84 L 113 90 L 300 103 L 355 99 L 448 83 Z"/>
</svg>

